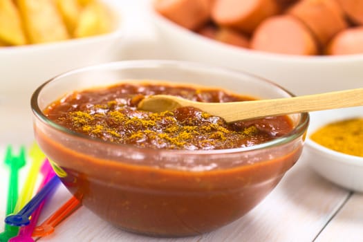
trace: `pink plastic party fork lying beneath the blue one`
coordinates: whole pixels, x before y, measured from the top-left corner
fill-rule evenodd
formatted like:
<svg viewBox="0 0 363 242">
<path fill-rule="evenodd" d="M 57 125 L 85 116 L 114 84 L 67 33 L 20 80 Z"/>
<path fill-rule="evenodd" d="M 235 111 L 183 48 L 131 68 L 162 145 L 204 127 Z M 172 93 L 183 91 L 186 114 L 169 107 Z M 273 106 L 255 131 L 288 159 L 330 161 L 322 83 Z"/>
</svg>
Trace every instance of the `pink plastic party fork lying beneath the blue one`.
<svg viewBox="0 0 363 242">
<path fill-rule="evenodd" d="M 50 166 L 48 159 L 44 160 L 43 165 L 41 165 L 40 172 L 43 175 L 43 180 L 41 180 L 39 189 L 44 187 L 44 185 L 46 185 L 46 183 L 48 183 L 48 181 L 53 178 L 53 176 L 55 176 L 55 172 Z M 8 242 L 34 242 L 34 239 L 32 239 L 32 232 L 37 225 L 37 221 L 44 206 L 44 202 L 45 201 L 43 201 L 39 207 L 37 207 L 37 210 L 32 213 L 32 219 L 30 219 L 29 225 L 21 227 L 19 234 L 15 237 L 12 237 Z"/>
</svg>

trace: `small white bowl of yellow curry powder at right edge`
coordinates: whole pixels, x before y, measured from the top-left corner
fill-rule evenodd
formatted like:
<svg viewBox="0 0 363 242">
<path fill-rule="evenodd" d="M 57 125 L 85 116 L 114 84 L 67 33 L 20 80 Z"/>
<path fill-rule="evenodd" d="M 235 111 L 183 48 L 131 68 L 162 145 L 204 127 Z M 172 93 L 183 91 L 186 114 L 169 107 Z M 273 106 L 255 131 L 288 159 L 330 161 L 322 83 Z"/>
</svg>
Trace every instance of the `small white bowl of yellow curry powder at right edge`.
<svg viewBox="0 0 363 242">
<path fill-rule="evenodd" d="M 304 162 L 320 176 L 363 192 L 363 106 L 310 113 Z"/>
</svg>

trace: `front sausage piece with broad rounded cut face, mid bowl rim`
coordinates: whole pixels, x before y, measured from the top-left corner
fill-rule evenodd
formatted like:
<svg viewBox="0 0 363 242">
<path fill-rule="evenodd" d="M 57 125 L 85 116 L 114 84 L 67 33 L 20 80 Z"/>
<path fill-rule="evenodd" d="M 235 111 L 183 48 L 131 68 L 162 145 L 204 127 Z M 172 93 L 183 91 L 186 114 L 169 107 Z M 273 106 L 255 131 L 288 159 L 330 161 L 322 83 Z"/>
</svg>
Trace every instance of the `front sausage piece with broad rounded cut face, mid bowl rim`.
<svg viewBox="0 0 363 242">
<path fill-rule="evenodd" d="M 254 50 L 288 55 L 317 55 L 313 34 L 298 19 L 277 15 L 263 21 L 252 36 Z"/>
</svg>

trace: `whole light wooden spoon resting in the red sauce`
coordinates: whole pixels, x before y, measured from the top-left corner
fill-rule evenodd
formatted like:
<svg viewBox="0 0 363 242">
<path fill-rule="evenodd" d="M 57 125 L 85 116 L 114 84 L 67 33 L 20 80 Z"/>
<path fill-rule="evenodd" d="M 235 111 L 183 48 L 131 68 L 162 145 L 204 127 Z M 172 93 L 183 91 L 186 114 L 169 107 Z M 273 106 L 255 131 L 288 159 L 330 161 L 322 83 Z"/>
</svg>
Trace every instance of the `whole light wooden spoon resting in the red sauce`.
<svg viewBox="0 0 363 242">
<path fill-rule="evenodd" d="M 363 105 L 363 89 L 351 89 L 270 100 L 214 103 L 194 102 L 172 95 L 151 95 L 138 104 L 138 109 L 158 113 L 171 111 L 180 106 L 194 106 L 206 113 L 219 116 L 226 122 L 234 122 L 251 118 L 361 105 Z"/>
</svg>

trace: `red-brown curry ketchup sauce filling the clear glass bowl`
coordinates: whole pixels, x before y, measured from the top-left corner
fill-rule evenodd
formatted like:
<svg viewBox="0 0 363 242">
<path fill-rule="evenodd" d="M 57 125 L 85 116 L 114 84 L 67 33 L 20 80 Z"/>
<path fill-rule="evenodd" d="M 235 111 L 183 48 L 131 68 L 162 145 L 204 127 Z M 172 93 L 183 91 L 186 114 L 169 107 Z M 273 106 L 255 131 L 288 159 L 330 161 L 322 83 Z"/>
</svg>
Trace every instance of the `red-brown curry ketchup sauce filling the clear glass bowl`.
<svg viewBox="0 0 363 242">
<path fill-rule="evenodd" d="M 287 135 L 293 127 L 286 116 L 227 124 L 188 107 L 162 117 L 137 110 L 144 96 L 160 93 L 201 102 L 250 100 L 219 89 L 120 84 L 50 104 L 44 113 L 66 132 L 35 127 L 66 187 L 124 230 L 154 236 L 214 230 L 250 211 L 299 158 L 298 142 L 266 152 L 233 152 Z M 107 116 L 115 111 L 122 115 Z"/>
</svg>

